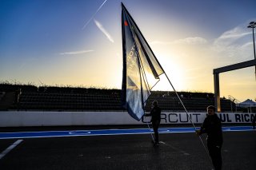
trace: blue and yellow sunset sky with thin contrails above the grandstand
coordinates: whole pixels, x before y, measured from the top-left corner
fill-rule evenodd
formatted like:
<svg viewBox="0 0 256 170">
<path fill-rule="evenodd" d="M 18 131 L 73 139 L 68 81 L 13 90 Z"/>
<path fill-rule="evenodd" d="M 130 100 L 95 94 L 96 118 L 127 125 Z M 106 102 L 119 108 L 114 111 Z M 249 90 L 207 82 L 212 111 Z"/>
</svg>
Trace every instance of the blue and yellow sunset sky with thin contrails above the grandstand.
<svg viewBox="0 0 256 170">
<path fill-rule="evenodd" d="M 255 0 L 124 0 L 177 91 L 214 93 L 213 69 L 254 59 Z M 0 81 L 121 89 L 120 0 L 0 0 Z M 254 67 L 220 74 L 255 100 Z M 166 77 L 154 90 L 172 90 Z"/>
</svg>

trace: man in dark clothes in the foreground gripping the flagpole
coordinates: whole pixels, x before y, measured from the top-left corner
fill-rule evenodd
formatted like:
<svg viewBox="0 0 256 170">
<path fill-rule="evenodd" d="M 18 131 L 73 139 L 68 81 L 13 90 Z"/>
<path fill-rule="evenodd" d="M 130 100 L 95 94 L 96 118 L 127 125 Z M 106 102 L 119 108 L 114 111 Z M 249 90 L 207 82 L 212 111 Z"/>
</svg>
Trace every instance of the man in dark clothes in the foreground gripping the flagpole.
<svg viewBox="0 0 256 170">
<path fill-rule="evenodd" d="M 200 130 L 196 131 L 198 135 L 207 133 L 207 148 L 214 164 L 215 170 L 222 169 L 222 122 L 215 113 L 215 107 L 207 107 L 207 117 L 203 121 Z"/>
</svg>

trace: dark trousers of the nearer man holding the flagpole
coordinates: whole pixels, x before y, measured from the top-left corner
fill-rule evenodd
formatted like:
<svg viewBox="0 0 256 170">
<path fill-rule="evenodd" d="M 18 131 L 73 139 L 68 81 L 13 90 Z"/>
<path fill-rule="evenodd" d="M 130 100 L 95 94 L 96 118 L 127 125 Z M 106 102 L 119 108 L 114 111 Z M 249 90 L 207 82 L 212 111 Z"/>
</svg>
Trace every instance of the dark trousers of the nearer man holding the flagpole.
<svg viewBox="0 0 256 170">
<path fill-rule="evenodd" d="M 216 144 L 210 144 L 210 142 L 208 142 L 207 148 L 208 148 L 211 160 L 214 164 L 214 169 L 221 170 L 222 169 L 222 146 L 219 146 L 218 148 Z"/>
</svg>

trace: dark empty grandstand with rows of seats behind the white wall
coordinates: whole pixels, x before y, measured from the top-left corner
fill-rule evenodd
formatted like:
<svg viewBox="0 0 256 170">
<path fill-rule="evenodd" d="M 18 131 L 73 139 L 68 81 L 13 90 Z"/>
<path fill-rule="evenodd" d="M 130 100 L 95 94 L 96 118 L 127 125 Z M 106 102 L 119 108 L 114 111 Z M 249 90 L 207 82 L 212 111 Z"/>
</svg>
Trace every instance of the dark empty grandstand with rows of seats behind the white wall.
<svg viewBox="0 0 256 170">
<path fill-rule="evenodd" d="M 188 112 L 204 112 L 214 105 L 213 93 L 178 92 Z M 146 111 L 157 100 L 162 110 L 183 112 L 182 104 L 174 92 L 152 91 Z M 234 109 L 234 101 L 222 98 L 222 111 Z M 120 89 L 94 89 L 56 86 L 0 84 L 0 110 L 18 111 L 124 111 Z"/>
</svg>

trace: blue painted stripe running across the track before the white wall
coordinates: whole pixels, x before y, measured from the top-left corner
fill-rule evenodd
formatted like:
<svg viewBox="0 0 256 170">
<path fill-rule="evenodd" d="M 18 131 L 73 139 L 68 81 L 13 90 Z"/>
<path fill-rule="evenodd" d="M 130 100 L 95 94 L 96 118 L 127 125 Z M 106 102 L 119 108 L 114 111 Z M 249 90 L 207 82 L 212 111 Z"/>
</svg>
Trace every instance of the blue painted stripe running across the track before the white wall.
<svg viewBox="0 0 256 170">
<path fill-rule="evenodd" d="M 198 129 L 198 128 L 197 128 Z M 253 131 L 251 126 L 222 127 L 223 132 Z M 147 134 L 153 132 L 149 128 L 130 129 L 101 129 L 101 130 L 74 130 L 74 131 L 42 131 L 42 132 L 0 132 L 1 139 L 58 137 L 58 136 L 102 136 L 102 135 L 128 135 Z M 159 128 L 159 133 L 194 132 L 194 128 Z"/>
</svg>

